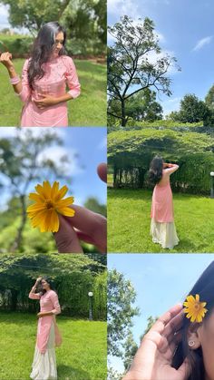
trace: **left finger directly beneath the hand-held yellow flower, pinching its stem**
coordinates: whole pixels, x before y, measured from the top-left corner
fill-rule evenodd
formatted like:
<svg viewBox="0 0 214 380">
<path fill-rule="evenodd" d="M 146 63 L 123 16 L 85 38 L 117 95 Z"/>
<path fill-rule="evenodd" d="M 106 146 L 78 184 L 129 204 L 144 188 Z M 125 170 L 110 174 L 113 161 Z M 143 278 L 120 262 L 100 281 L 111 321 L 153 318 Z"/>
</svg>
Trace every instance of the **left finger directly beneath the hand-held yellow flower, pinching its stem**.
<svg viewBox="0 0 214 380">
<path fill-rule="evenodd" d="M 59 253 L 83 253 L 79 239 L 68 221 L 59 215 L 60 228 L 53 234 Z"/>
</svg>

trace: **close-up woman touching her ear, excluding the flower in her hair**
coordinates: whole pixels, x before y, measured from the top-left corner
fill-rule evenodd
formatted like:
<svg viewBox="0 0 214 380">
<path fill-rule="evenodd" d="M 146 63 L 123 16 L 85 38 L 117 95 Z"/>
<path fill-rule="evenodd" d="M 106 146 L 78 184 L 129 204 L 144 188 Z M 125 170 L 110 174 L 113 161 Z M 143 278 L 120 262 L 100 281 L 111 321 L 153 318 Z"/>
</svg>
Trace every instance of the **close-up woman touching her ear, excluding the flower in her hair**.
<svg viewBox="0 0 214 380">
<path fill-rule="evenodd" d="M 123 380 L 214 380 L 214 261 L 192 287 L 195 295 L 206 303 L 202 322 L 171 307 L 143 337 Z"/>
</svg>

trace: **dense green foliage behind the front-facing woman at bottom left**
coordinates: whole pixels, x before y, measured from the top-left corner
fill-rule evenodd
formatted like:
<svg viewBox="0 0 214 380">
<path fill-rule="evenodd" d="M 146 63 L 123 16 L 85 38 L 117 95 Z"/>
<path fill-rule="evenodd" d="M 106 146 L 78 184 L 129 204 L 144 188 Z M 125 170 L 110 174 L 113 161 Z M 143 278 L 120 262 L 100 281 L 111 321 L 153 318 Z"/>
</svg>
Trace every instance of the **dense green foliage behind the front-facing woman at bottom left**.
<svg viewBox="0 0 214 380">
<path fill-rule="evenodd" d="M 88 317 L 88 292 L 93 292 L 94 319 L 106 319 L 105 267 L 84 255 L 1 254 L 0 307 L 3 310 L 36 311 L 39 303 L 28 298 L 35 279 L 53 280 L 63 315 Z"/>
</svg>

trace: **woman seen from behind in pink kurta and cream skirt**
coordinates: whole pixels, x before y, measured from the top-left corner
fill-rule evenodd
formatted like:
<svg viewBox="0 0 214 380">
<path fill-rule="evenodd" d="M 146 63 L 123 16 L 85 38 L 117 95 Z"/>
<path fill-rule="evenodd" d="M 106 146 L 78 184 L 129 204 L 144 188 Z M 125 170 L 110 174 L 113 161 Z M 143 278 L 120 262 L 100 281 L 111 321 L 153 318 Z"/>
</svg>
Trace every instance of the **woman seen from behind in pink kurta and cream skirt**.
<svg viewBox="0 0 214 380">
<path fill-rule="evenodd" d="M 151 237 L 162 248 L 173 248 L 179 244 L 170 189 L 170 175 L 178 169 L 179 165 L 164 163 L 160 157 L 151 161 L 149 180 L 155 185 L 151 204 Z"/>
</svg>

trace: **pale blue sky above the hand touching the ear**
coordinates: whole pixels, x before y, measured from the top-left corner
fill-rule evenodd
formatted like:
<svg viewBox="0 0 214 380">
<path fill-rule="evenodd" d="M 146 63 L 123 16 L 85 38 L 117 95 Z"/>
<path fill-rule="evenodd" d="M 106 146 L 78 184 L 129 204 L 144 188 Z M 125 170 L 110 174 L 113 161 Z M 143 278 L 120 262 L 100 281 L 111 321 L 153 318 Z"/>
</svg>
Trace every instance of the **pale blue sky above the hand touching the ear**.
<svg viewBox="0 0 214 380">
<path fill-rule="evenodd" d="M 182 303 L 214 254 L 109 254 L 108 268 L 116 268 L 130 279 L 137 292 L 135 305 L 141 316 L 134 317 L 132 332 L 139 344 L 147 318 L 159 317 L 170 307 Z M 122 370 L 120 360 L 112 364 Z"/>
</svg>

